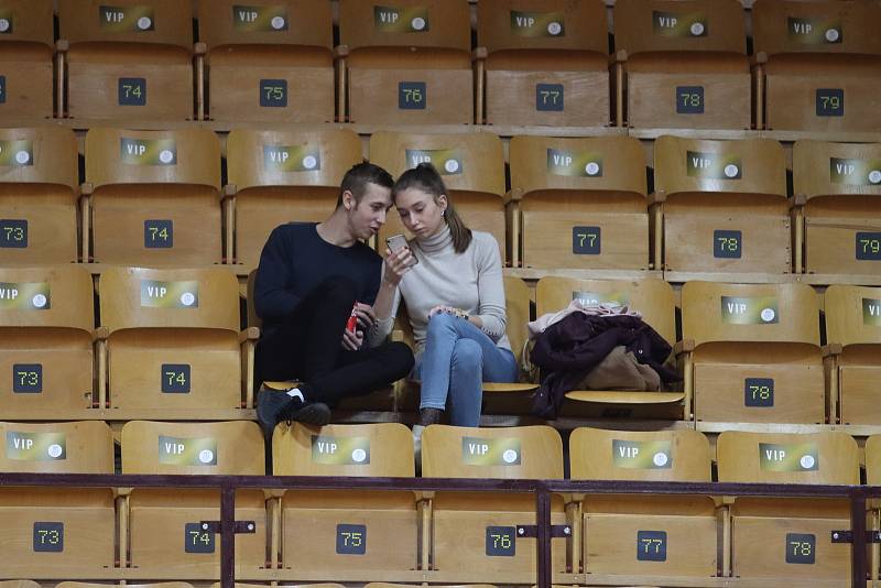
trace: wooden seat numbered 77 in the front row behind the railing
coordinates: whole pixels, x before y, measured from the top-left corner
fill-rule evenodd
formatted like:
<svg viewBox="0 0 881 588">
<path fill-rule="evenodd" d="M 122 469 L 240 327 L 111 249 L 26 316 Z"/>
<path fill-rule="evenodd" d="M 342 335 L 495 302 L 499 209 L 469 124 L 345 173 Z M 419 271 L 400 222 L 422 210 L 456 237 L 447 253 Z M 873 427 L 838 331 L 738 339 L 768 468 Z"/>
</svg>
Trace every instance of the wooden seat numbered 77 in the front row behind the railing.
<svg viewBox="0 0 881 588">
<path fill-rule="evenodd" d="M 696 431 L 576 428 L 569 464 L 573 480 L 711 481 L 709 442 Z M 716 575 L 710 497 L 601 494 L 587 496 L 578 507 L 586 574 L 638 576 L 646 582 Z"/>
</svg>

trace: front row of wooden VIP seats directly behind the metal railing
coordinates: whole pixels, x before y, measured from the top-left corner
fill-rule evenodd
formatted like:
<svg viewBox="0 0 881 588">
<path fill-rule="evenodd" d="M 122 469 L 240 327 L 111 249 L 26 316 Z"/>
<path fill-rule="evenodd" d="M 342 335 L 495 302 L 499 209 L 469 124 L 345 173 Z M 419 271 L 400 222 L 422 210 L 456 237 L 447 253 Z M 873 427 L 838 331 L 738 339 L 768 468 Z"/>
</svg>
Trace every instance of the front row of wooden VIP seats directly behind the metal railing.
<svg viewBox="0 0 881 588">
<path fill-rule="evenodd" d="M 112 434 L 104 423 L 7 422 L 0 431 L 7 439 L 0 471 L 113 473 Z M 724 433 L 715 454 L 695 431 L 578 428 L 568 445 L 572 480 L 710 483 L 715 461 L 719 482 L 860 483 L 861 451 L 853 438 L 835 432 Z M 253 423 L 134 421 L 122 427 L 121 447 L 122 473 L 264 473 L 263 438 Z M 280 424 L 271 472 L 412 478 L 412 447 L 401 424 Z M 867 440 L 864 461 L 868 483 L 879 483 L 881 437 Z M 563 442 L 546 426 L 432 425 L 423 437 L 422 476 L 559 480 Z M 453 483 L 437 492 L 342 486 L 236 492 L 236 520 L 252 525 L 236 540 L 236 577 L 401 581 L 418 571 L 432 581 L 534 579 L 535 540 L 525 531 L 535 525 L 533 496 L 457 492 Z M 554 496 L 554 575 L 663 578 L 666 585 L 671 578 L 716 576 L 840 585 L 850 576 L 850 546 L 833 541 L 833 533 L 850 529 L 848 502 L 770 493 L 726 500 L 711 490 L 685 497 L 589 490 Z M 219 575 L 219 537 L 210 524 L 200 524 L 218 520 L 216 490 L 65 489 L 62 498 L 55 488 L 4 484 L 0 501 L 8 538 L 3 578 L 76 579 L 115 569 L 128 571 L 127 578 Z M 867 519 L 874 515 L 872 509 Z"/>
</svg>

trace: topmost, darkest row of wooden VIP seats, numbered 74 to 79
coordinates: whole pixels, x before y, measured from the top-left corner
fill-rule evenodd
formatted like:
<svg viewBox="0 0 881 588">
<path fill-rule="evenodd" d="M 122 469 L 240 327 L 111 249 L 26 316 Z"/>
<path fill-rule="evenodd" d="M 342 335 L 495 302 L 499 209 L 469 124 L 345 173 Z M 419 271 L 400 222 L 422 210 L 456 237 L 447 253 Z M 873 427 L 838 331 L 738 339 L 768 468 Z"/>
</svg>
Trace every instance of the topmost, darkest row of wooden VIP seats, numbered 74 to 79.
<svg viewBox="0 0 881 588">
<path fill-rule="evenodd" d="M 54 43 L 7 2 L 3 118 L 881 130 L 871 0 L 757 1 L 752 62 L 736 0 L 620 0 L 613 57 L 601 0 L 479 2 L 474 53 L 467 0 L 341 0 L 336 47 L 325 0 L 199 0 L 195 45 L 181 2 L 118 4 L 58 2 Z"/>
</svg>

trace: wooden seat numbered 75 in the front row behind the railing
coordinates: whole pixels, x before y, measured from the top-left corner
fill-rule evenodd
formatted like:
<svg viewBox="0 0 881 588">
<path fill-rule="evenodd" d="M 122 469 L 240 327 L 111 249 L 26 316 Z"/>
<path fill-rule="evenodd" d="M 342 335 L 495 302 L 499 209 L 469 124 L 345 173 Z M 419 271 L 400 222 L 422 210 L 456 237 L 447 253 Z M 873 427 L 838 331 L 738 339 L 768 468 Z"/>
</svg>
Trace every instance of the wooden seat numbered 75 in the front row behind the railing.
<svg viewBox="0 0 881 588">
<path fill-rule="evenodd" d="M 272 436 L 272 464 L 275 476 L 412 478 L 413 436 L 400 423 L 282 423 Z M 418 498 L 412 491 L 287 490 L 280 502 L 282 567 L 297 578 L 337 581 L 423 569 L 418 513 L 425 504 L 417 505 Z"/>
</svg>

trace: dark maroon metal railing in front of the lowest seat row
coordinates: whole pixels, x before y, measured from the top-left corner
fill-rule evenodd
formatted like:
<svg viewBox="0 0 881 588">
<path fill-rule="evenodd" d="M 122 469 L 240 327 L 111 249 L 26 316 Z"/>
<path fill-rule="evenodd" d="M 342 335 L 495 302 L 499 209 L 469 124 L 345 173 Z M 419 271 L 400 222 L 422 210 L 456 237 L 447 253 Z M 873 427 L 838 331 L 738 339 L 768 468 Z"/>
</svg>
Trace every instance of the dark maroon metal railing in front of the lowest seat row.
<svg viewBox="0 0 881 588">
<path fill-rule="evenodd" d="M 864 588 L 867 545 L 877 542 L 867 533 L 867 500 L 881 498 L 879 486 L 754 484 L 727 482 L 648 482 L 624 480 L 503 480 L 458 478 L 352 478 L 304 476 L 146 476 L 79 473 L 0 473 L 2 487 L 69 488 L 203 488 L 220 491 L 220 581 L 233 588 L 236 554 L 236 491 L 261 490 L 412 490 L 503 492 L 535 494 L 536 578 L 551 588 L 551 497 L 575 494 L 687 494 L 715 497 L 766 497 L 845 499 L 850 502 L 851 586 Z"/>
</svg>

